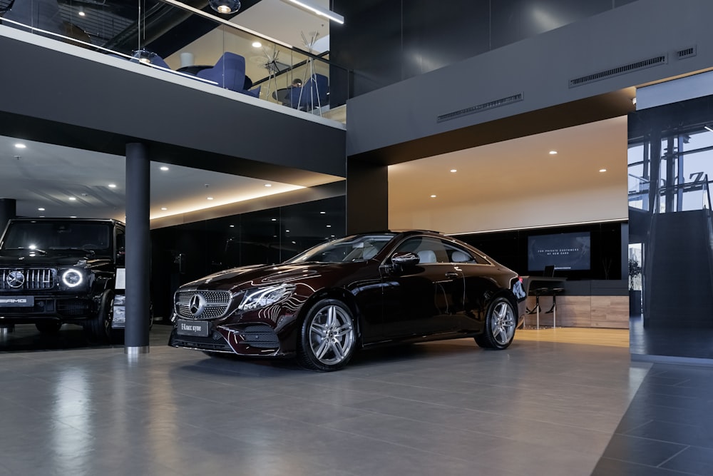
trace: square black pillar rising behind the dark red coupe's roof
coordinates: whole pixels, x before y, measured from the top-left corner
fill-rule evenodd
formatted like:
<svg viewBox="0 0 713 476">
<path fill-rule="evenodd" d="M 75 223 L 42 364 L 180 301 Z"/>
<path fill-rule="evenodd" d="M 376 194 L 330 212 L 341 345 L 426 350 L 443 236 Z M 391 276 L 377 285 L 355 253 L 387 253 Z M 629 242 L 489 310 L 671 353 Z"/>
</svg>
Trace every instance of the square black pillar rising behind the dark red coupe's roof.
<svg viewBox="0 0 713 476">
<path fill-rule="evenodd" d="M 347 159 L 347 234 L 389 228 L 389 168 Z"/>
</svg>

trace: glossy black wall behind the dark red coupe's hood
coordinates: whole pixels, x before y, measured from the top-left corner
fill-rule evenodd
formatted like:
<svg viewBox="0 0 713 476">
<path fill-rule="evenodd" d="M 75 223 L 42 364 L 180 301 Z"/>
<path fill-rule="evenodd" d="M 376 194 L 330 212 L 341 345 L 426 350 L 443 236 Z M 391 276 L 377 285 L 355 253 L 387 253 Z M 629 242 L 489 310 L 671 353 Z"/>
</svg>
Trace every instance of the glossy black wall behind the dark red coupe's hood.
<svg viewBox="0 0 713 476">
<path fill-rule="evenodd" d="M 155 315 L 183 283 L 242 265 L 281 263 L 346 233 L 346 198 L 298 203 L 151 231 Z"/>
</svg>

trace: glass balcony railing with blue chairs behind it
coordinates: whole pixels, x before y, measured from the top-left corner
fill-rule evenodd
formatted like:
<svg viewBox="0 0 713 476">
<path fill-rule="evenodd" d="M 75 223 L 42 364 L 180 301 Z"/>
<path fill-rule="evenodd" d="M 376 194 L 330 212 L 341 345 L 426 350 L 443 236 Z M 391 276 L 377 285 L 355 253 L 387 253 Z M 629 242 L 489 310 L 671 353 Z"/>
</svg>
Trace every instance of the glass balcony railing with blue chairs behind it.
<svg viewBox="0 0 713 476">
<path fill-rule="evenodd" d="M 330 64 L 317 34 L 287 44 L 207 4 L 0 0 L 0 21 L 306 113 L 327 115 L 346 103 L 349 73 Z"/>
</svg>

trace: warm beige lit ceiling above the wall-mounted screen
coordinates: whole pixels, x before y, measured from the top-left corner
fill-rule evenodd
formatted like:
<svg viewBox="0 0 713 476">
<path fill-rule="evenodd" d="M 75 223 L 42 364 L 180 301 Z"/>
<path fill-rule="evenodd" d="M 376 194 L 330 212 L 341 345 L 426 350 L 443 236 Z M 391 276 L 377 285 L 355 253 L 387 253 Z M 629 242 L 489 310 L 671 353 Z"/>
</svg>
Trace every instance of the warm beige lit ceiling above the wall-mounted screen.
<svg viewBox="0 0 713 476">
<path fill-rule="evenodd" d="M 621 116 L 390 166 L 389 213 L 620 187 L 626 138 Z"/>
</svg>

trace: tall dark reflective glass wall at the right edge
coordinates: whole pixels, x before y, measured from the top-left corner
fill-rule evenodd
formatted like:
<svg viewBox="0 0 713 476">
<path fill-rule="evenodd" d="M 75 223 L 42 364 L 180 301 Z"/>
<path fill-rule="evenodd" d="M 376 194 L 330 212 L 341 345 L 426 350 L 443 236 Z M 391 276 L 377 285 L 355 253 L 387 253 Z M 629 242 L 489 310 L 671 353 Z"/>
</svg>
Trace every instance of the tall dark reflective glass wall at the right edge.
<svg viewBox="0 0 713 476">
<path fill-rule="evenodd" d="M 713 358 L 712 103 L 630 114 L 632 355 Z"/>
</svg>

